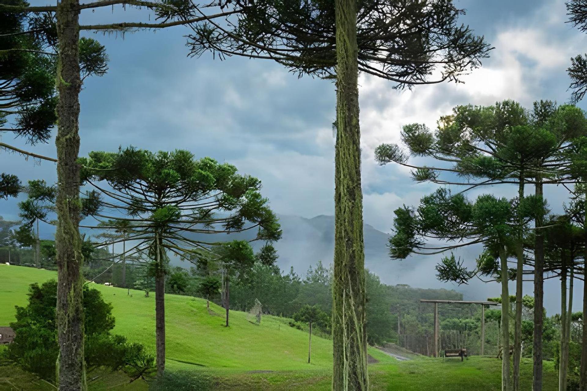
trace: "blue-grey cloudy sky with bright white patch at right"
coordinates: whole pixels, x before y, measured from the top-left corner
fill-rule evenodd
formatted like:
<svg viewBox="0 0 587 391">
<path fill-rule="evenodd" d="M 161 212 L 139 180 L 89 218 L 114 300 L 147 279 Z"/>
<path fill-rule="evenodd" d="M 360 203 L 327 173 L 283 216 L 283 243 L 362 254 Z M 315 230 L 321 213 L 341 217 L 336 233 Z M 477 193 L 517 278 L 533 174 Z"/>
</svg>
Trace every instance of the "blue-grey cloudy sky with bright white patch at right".
<svg viewBox="0 0 587 391">
<path fill-rule="evenodd" d="M 43 5 L 46 1 L 31 1 Z M 512 98 L 525 106 L 537 99 L 569 98 L 565 69 L 583 53 L 587 35 L 565 23 L 564 1 L 456 0 L 467 10 L 462 21 L 495 47 L 464 84 L 393 90 L 393 84 L 360 77 L 365 222 L 389 232 L 393 209 L 413 204 L 431 186 L 411 182 L 397 166 L 377 166 L 373 150 L 396 142 L 404 124 L 436 125 L 458 104 L 492 104 Z M 144 11 L 122 7 L 82 14 L 82 23 L 134 21 Z M 188 58 L 187 29 L 120 35 L 89 35 L 106 45 L 110 70 L 88 79 L 81 95 L 81 154 L 119 145 L 147 149 L 183 148 L 258 176 L 272 208 L 284 215 L 333 214 L 335 91 L 332 82 L 298 79 L 278 64 L 211 55 Z M 585 104 L 582 105 L 585 108 Z M 2 141 L 13 141 L 10 135 Z M 55 156 L 55 145 L 35 151 Z M 0 152 L 2 171 L 22 179 L 55 179 L 55 166 Z M 515 189 L 485 192 L 513 196 Z M 553 209 L 565 194 L 548 189 Z M 0 215 L 14 217 L 16 201 L 0 203 Z"/>
</svg>

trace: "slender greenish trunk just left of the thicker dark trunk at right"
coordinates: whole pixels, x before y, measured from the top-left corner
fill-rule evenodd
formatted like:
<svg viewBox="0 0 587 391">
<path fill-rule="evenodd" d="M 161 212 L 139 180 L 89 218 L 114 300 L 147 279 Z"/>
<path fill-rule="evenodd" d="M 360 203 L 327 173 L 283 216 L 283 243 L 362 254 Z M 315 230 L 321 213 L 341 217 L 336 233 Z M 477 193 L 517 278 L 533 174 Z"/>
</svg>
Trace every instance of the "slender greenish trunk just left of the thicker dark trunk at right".
<svg viewBox="0 0 587 391">
<path fill-rule="evenodd" d="M 524 199 L 524 169 L 520 169 L 518 199 Z M 524 226 L 521 215 L 518 217 L 518 237 L 516 240 L 516 278 L 515 278 L 515 324 L 514 324 L 514 391 L 519 391 L 519 362 L 522 358 L 522 273 L 524 271 Z"/>
</svg>

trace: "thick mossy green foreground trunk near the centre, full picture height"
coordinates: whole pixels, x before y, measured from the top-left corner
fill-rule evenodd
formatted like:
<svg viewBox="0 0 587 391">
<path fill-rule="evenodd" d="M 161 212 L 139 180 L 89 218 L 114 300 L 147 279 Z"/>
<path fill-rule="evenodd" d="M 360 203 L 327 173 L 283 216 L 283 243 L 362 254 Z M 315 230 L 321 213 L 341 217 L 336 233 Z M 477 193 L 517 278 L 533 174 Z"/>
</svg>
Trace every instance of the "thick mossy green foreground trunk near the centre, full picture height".
<svg viewBox="0 0 587 391">
<path fill-rule="evenodd" d="M 369 388 L 356 0 L 335 0 L 336 152 L 332 302 L 333 391 Z"/>
</svg>

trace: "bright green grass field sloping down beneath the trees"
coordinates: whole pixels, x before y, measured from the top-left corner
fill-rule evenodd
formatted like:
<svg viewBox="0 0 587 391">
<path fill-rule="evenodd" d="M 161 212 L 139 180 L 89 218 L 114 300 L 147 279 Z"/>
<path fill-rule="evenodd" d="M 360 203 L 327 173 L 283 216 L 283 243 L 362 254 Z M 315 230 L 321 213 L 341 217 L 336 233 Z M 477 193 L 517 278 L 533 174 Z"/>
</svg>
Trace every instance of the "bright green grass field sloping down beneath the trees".
<svg viewBox="0 0 587 391">
<path fill-rule="evenodd" d="M 56 278 L 56 273 L 35 268 L 0 265 L 0 325 L 14 321 L 14 305 L 26 304 L 32 282 Z M 154 294 L 93 284 L 112 302 L 116 317 L 114 332 L 141 342 L 152 351 L 155 344 Z M 231 311 L 231 327 L 224 327 L 224 310 L 198 298 L 166 295 L 167 369 L 186 378 L 207 379 L 214 390 L 312 390 L 330 389 L 332 341 L 312 338 L 312 363 L 308 364 L 308 334 L 289 327 L 289 319 L 264 316 L 254 324 L 245 312 Z M 494 358 L 417 358 L 399 362 L 369 348 L 377 363 L 369 366 L 373 390 L 500 390 L 501 362 Z M 531 389 L 530 361 L 522 366 L 522 389 Z M 556 373 L 545 362 L 545 391 L 556 389 Z M 124 382 L 119 374 L 101 374 L 90 382 L 90 390 L 106 390 Z M 188 382 L 189 379 L 186 380 Z M 194 380 L 195 381 L 195 380 Z M 26 384 L 26 387 L 23 386 Z M 19 388 L 20 387 L 20 388 Z M 144 391 L 144 382 L 121 385 L 111 390 Z M 0 391 L 51 390 L 18 368 L 0 363 Z"/>
</svg>

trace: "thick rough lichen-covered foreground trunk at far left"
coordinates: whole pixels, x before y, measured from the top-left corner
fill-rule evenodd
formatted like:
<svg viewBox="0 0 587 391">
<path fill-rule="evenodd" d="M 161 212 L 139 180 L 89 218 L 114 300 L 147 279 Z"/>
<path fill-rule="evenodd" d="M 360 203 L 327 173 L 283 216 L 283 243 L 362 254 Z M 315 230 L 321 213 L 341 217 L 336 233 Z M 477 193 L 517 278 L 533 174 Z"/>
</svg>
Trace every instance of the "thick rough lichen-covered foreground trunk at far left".
<svg viewBox="0 0 587 391">
<path fill-rule="evenodd" d="M 83 355 L 82 240 L 79 207 L 79 0 L 57 5 L 57 323 L 59 391 L 86 390 Z"/>
</svg>

